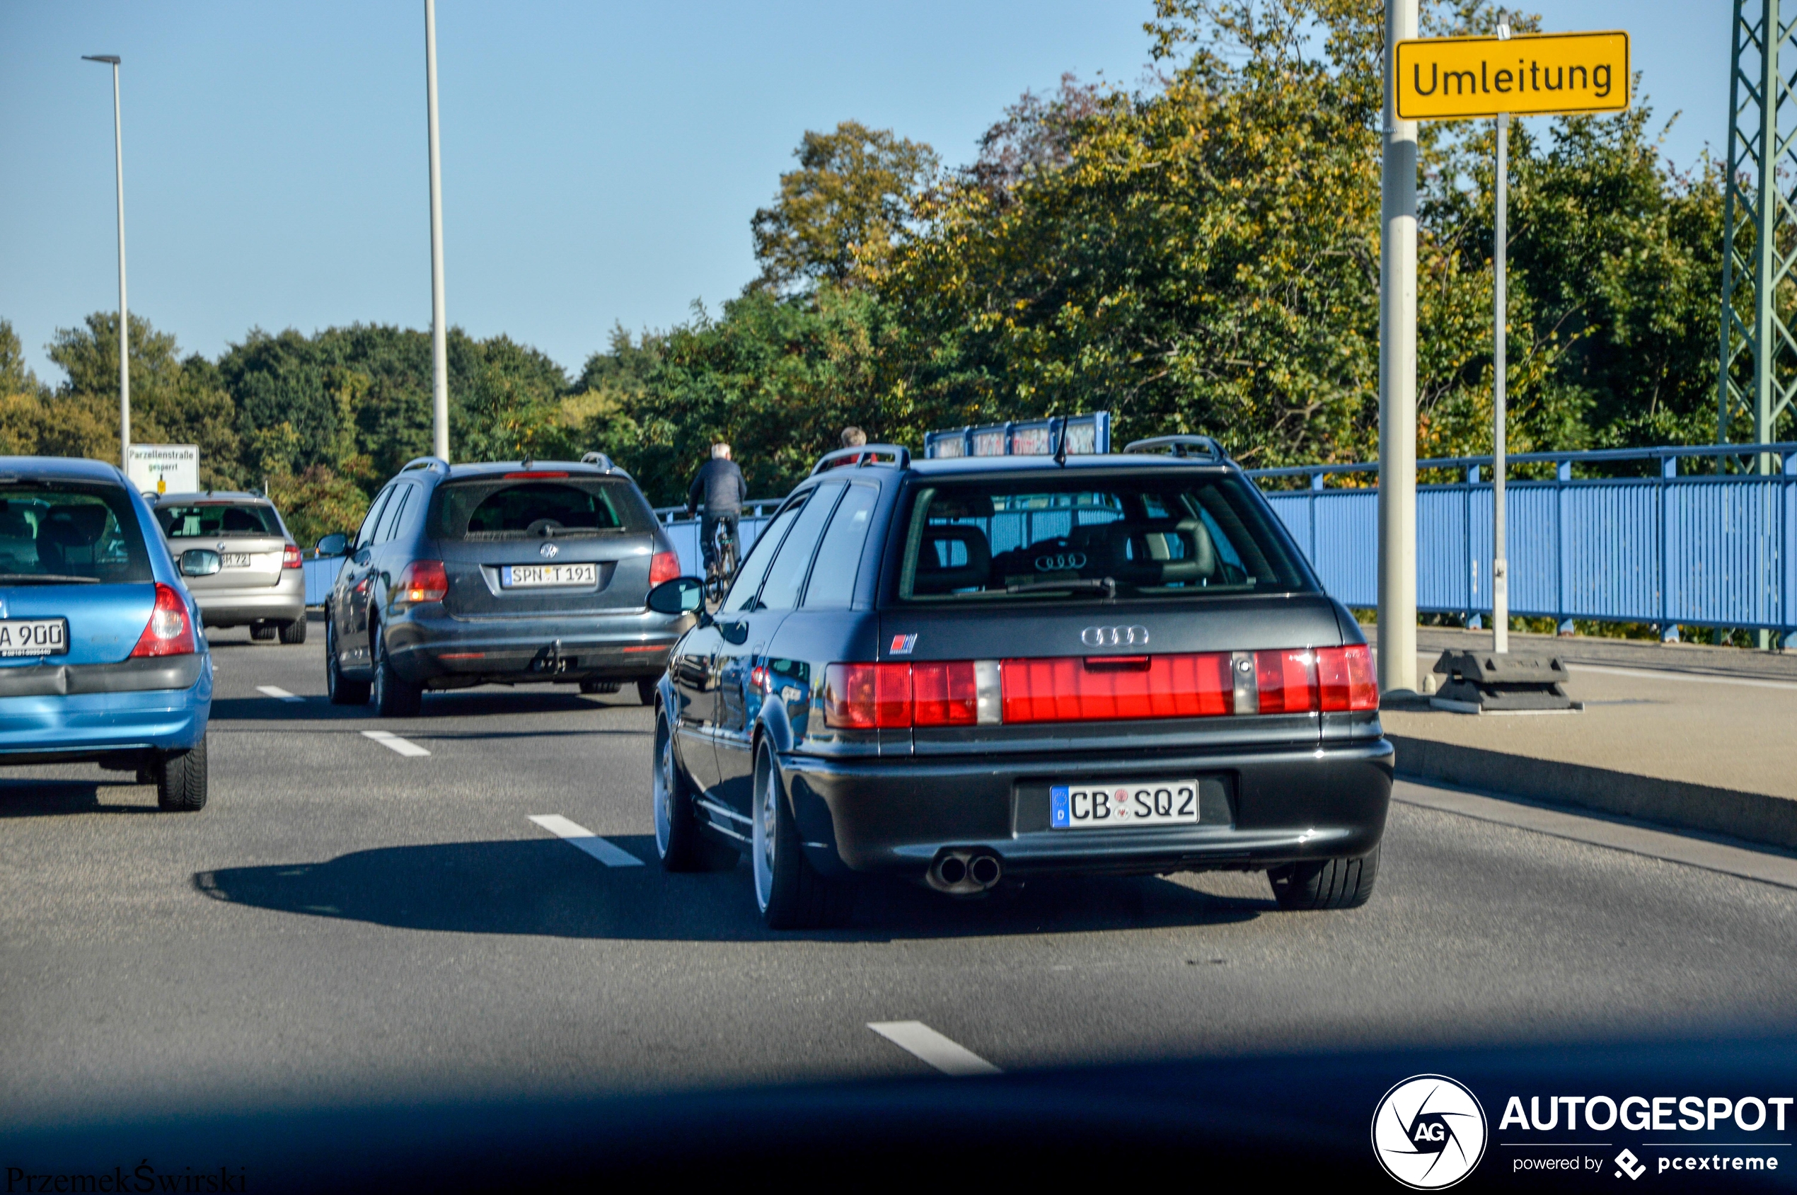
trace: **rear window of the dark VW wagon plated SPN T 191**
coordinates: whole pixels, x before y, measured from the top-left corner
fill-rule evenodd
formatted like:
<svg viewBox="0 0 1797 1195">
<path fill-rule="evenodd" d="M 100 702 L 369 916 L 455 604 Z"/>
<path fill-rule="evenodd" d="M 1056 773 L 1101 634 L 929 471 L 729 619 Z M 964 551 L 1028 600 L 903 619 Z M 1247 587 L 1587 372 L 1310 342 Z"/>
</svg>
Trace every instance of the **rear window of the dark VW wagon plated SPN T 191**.
<svg viewBox="0 0 1797 1195">
<path fill-rule="evenodd" d="M 431 496 L 431 539 L 525 539 L 539 536 L 640 536 L 654 512 L 627 482 L 600 478 L 478 478 L 446 482 Z"/>
</svg>

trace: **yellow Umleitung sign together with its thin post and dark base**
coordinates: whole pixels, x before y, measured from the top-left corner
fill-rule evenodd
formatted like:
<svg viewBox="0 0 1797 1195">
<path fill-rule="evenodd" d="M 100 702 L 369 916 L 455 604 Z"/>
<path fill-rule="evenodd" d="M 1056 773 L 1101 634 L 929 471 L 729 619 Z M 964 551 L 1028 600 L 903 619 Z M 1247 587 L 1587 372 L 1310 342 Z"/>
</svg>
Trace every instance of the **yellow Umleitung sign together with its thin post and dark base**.
<svg viewBox="0 0 1797 1195">
<path fill-rule="evenodd" d="M 1509 659 L 1509 561 L 1506 543 L 1506 385 L 1509 329 L 1509 117 L 1624 111 L 1628 108 L 1628 34 L 1574 32 L 1511 36 L 1499 11 L 1493 38 L 1416 38 L 1393 49 L 1393 108 L 1405 120 L 1497 122 L 1497 171 L 1492 219 L 1492 651 L 1500 659 L 1484 668 L 1459 668 L 1445 652 L 1436 672 L 1447 672 L 1456 697 L 1448 708 L 1565 708 L 1536 704 L 1542 661 Z M 1465 652 L 1470 656 L 1470 652 Z M 1558 667 L 1558 661 L 1554 661 Z M 1527 672 L 1531 701 L 1500 701 L 1500 690 Z M 1553 670 L 1553 668 L 1549 668 Z M 1474 676 L 1477 674 L 1477 676 Z M 1553 685 L 1558 690 L 1558 683 Z M 1443 688 L 1447 694 L 1447 688 Z M 1518 694 L 1509 694 L 1517 697 Z"/>
</svg>

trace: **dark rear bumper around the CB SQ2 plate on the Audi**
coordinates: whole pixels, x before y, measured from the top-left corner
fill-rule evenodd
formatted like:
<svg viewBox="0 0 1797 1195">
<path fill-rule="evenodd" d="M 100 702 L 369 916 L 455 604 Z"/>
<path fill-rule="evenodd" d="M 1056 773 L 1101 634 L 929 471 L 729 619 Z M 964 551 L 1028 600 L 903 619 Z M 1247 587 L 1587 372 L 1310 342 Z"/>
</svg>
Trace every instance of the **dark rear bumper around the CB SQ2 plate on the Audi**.
<svg viewBox="0 0 1797 1195">
<path fill-rule="evenodd" d="M 1260 870 L 1364 855 L 1385 832 L 1393 749 L 819 760 L 780 767 L 805 854 L 823 872 L 922 877 L 947 848 L 987 848 L 1008 875 Z M 1215 780 L 1199 825 L 1048 828 L 1048 787 L 1069 778 Z"/>
</svg>

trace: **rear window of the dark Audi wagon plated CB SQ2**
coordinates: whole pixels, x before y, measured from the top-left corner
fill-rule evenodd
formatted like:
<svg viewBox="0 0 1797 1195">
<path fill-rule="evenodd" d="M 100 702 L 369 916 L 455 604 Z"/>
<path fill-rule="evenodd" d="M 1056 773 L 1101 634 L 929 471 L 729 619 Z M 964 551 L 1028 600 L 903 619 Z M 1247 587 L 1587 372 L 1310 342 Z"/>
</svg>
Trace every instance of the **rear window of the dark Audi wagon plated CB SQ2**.
<svg viewBox="0 0 1797 1195">
<path fill-rule="evenodd" d="M 1312 589 L 1258 496 L 1202 473 L 925 485 L 898 575 L 898 600 L 924 604 Z"/>
</svg>

